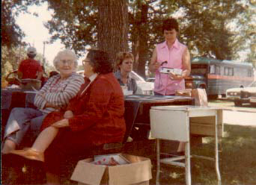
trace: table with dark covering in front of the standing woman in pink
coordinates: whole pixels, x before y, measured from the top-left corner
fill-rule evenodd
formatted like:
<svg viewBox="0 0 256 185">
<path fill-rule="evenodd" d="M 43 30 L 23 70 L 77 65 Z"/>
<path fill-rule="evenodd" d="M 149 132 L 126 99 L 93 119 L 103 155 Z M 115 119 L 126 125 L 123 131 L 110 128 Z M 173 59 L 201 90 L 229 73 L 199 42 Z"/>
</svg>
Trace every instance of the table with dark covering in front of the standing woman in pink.
<svg viewBox="0 0 256 185">
<path fill-rule="evenodd" d="M 132 139 L 146 139 L 150 130 L 150 107 L 165 105 L 194 105 L 194 98 L 175 95 L 126 95 L 125 96 L 125 120 L 127 133 L 124 142 L 129 136 Z M 134 133 L 135 127 L 141 131 Z"/>
</svg>

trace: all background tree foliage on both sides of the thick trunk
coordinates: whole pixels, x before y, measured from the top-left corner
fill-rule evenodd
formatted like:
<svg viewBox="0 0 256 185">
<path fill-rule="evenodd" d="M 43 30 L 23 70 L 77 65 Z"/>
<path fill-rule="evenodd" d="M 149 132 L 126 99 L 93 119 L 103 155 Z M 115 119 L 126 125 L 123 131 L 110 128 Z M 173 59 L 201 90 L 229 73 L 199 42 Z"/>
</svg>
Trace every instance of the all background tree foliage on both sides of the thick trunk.
<svg viewBox="0 0 256 185">
<path fill-rule="evenodd" d="M 54 10 L 52 19 L 45 23 L 52 34 L 51 42 L 60 39 L 61 43 L 73 48 L 79 55 L 85 52 L 86 46 L 98 46 L 97 0 L 3 1 L 3 46 L 17 46 L 24 36 L 15 24 L 15 17 L 20 12 L 26 12 L 28 5 L 44 1 L 48 2 L 49 9 Z M 249 0 L 127 0 L 127 3 L 129 50 L 137 59 L 135 70 L 138 69 L 142 76 L 154 46 L 164 40 L 162 20 L 179 13 L 179 39 L 189 46 L 192 56 L 237 59 L 238 51 L 255 43 L 255 9 Z M 232 22 L 237 25 L 236 28 L 232 28 Z M 252 51 L 248 59 L 253 61 L 255 52 Z"/>
</svg>

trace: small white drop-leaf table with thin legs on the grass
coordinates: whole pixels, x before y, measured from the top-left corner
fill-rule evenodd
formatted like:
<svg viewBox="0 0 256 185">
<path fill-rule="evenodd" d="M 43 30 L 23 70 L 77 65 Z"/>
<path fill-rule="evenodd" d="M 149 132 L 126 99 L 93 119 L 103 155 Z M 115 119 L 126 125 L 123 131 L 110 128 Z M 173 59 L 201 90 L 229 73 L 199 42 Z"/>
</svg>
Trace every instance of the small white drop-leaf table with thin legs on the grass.
<svg viewBox="0 0 256 185">
<path fill-rule="evenodd" d="M 156 138 L 157 171 L 156 184 L 159 184 L 160 163 L 183 166 L 186 171 L 186 184 L 191 184 L 190 158 L 199 157 L 215 161 L 218 184 L 221 184 L 219 172 L 219 138 L 223 134 L 222 109 L 199 106 L 156 106 L 150 108 L 150 128 Z M 190 134 L 215 137 L 215 157 L 190 154 Z M 159 139 L 185 142 L 185 156 L 167 157 L 160 160 Z M 185 163 L 177 162 L 185 158 Z"/>
</svg>

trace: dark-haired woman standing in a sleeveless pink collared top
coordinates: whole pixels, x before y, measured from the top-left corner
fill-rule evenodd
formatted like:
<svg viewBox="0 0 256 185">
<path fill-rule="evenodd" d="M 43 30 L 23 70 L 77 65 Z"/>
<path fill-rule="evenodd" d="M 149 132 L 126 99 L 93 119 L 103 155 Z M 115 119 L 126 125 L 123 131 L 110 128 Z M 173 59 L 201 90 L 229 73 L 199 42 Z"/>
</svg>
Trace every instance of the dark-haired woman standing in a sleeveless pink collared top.
<svg viewBox="0 0 256 185">
<path fill-rule="evenodd" d="M 165 42 L 156 45 L 150 60 L 150 72 L 156 75 L 155 95 L 175 95 L 176 90 L 185 90 L 184 78 L 190 74 L 189 49 L 177 40 L 179 25 L 174 18 L 166 19 L 162 25 Z M 162 73 L 165 68 L 182 69 L 180 75 Z"/>
</svg>

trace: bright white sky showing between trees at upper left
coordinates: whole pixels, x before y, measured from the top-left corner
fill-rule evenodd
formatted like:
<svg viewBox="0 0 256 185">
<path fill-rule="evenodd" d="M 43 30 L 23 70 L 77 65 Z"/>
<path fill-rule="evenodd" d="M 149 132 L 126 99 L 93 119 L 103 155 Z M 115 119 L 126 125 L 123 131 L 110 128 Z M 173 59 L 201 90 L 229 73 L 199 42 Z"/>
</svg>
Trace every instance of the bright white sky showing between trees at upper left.
<svg viewBox="0 0 256 185">
<path fill-rule="evenodd" d="M 17 19 L 16 23 L 25 33 L 25 38 L 22 41 L 25 43 L 30 43 L 31 46 L 34 46 L 37 49 L 37 53 L 43 54 L 43 42 L 49 41 L 50 34 L 43 23 L 47 22 L 52 18 L 51 11 L 47 10 L 47 3 L 44 3 L 42 6 L 31 6 L 28 7 L 28 13 L 21 13 Z M 32 13 L 37 13 L 38 16 L 33 16 Z M 49 64 L 53 66 L 52 61 L 58 51 L 64 49 L 65 46 L 61 44 L 60 40 L 55 41 L 52 44 L 45 45 L 44 56 L 46 61 L 49 61 Z M 82 59 L 80 59 L 82 60 Z M 79 65 L 81 61 L 79 60 Z"/>
</svg>

